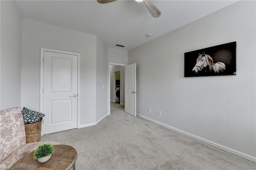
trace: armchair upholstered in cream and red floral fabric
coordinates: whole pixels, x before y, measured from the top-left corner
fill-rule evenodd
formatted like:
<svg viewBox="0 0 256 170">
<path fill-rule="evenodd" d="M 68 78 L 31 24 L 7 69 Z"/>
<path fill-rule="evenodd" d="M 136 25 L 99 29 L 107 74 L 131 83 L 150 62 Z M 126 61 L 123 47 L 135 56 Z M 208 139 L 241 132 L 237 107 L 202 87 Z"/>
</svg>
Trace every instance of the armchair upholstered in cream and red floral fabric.
<svg viewBox="0 0 256 170">
<path fill-rule="evenodd" d="M 9 169 L 17 160 L 43 143 L 26 143 L 24 122 L 19 107 L 0 111 L 0 170 Z"/>
</svg>

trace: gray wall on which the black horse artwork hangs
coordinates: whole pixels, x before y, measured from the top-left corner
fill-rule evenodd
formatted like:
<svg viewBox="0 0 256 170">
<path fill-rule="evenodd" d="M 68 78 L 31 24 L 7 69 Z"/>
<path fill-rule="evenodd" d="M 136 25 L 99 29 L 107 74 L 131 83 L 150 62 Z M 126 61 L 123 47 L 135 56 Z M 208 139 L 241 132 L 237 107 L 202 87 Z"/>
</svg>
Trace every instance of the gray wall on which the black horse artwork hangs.
<svg viewBox="0 0 256 170">
<path fill-rule="evenodd" d="M 137 113 L 255 159 L 255 6 L 236 2 L 128 51 Z M 184 78 L 185 52 L 234 41 L 237 75 Z"/>
</svg>

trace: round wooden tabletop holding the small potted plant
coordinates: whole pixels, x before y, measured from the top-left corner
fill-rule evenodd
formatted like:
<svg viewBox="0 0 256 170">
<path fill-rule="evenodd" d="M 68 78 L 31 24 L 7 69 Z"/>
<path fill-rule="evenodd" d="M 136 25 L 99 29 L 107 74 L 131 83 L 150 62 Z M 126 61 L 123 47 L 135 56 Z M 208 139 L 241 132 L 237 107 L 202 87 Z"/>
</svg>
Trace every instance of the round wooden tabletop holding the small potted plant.
<svg viewBox="0 0 256 170">
<path fill-rule="evenodd" d="M 70 170 L 75 169 L 77 152 L 72 146 L 65 144 L 54 145 L 54 153 L 44 163 L 33 159 L 34 152 L 27 154 L 15 162 L 9 170 Z"/>
</svg>

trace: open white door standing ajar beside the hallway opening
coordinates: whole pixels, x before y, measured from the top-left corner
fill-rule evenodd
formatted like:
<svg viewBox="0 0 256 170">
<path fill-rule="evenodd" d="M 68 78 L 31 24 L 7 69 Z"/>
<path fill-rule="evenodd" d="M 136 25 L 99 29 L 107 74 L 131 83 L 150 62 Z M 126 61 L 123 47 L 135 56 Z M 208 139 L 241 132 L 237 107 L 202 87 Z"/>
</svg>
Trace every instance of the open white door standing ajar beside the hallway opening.
<svg viewBox="0 0 256 170">
<path fill-rule="evenodd" d="M 124 77 L 124 111 L 136 117 L 136 63 L 125 66 Z"/>
</svg>

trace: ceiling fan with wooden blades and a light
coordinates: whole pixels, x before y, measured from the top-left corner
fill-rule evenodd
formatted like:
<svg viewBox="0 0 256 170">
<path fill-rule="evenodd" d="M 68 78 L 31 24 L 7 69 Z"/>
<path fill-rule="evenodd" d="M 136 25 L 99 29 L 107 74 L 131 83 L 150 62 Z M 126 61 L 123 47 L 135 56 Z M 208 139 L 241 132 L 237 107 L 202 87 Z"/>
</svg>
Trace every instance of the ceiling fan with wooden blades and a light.
<svg viewBox="0 0 256 170">
<path fill-rule="evenodd" d="M 97 2 L 99 2 L 100 4 L 106 4 L 114 1 L 117 1 L 117 0 L 97 0 Z M 152 4 L 152 2 L 150 2 L 150 0 L 136 0 L 136 1 L 137 2 L 143 1 L 146 7 L 148 8 L 148 11 L 154 18 L 158 18 L 162 14 L 161 11 L 154 4 Z"/>
</svg>

